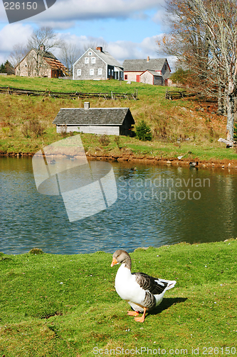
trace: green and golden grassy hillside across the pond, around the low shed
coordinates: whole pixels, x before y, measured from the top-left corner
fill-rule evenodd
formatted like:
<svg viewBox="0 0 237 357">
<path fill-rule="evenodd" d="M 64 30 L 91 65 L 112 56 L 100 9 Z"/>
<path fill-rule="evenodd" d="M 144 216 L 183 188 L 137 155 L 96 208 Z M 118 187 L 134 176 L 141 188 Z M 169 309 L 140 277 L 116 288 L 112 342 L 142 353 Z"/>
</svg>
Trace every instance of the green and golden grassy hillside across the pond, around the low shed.
<svg viewBox="0 0 237 357">
<path fill-rule="evenodd" d="M 237 159 L 235 149 L 226 149 L 218 143 L 226 137 L 226 118 L 217 116 L 216 104 L 198 98 L 169 101 L 164 99 L 166 87 L 120 81 L 66 81 L 63 79 L 27 79 L 1 76 L 0 86 L 51 91 L 83 91 L 134 93 L 139 100 L 90 99 L 91 107 L 130 107 L 135 123 L 144 119 L 152 129 L 152 141 L 121 137 L 120 148 L 115 137 L 102 146 L 99 136 L 83 135 L 88 154 L 94 156 L 149 156 L 157 159 L 232 160 Z M 0 151 L 1 153 L 34 154 L 42 146 L 62 139 L 56 134 L 52 121 L 62 107 L 83 107 L 82 100 L 51 99 L 42 97 L 0 95 Z M 38 126 L 29 128 L 30 123 Z M 179 141 L 177 141 L 179 139 Z M 95 154 L 96 153 L 96 154 Z"/>
</svg>

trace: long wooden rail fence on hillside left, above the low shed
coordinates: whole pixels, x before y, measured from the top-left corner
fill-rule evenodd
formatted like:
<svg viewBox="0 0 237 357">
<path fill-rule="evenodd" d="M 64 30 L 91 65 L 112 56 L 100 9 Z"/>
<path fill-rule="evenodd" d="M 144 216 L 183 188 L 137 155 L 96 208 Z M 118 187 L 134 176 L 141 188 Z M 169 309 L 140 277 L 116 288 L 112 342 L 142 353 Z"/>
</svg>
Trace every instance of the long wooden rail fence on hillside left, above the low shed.
<svg viewBox="0 0 237 357">
<path fill-rule="evenodd" d="M 62 98 L 62 99 L 84 99 L 84 98 L 103 98 L 103 99 L 134 99 L 137 100 L 137 91 L 134 94 L 131 93 L 115 93 L 111 91 L 110 93 L 82 93 L 82 92 L 53 92 L 53 91 L 33 91 L 28 89 L 10 88 L 10 87 L 0 87 L 0 94 L 16 94 L 18 96 L 50 96 L 52 98 Z"/>
</svg>

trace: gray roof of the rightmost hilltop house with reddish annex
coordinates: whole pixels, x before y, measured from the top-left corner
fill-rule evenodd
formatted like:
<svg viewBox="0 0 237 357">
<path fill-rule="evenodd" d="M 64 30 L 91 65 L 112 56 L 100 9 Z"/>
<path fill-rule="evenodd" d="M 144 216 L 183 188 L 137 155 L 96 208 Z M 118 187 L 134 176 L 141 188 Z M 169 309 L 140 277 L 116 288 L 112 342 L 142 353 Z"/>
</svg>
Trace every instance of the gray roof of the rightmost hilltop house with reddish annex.
<svg viewBox="0 0 237 357">
<path fill-rule="evenodd" d="M 153 71 L 161 71 L 166 59 L 125 59 L 122 66 L 124 71 L 146 71 L 151 69 Z"/>
</svg>

